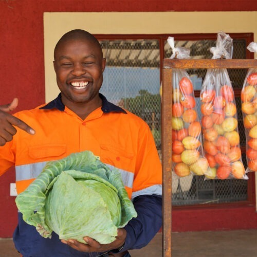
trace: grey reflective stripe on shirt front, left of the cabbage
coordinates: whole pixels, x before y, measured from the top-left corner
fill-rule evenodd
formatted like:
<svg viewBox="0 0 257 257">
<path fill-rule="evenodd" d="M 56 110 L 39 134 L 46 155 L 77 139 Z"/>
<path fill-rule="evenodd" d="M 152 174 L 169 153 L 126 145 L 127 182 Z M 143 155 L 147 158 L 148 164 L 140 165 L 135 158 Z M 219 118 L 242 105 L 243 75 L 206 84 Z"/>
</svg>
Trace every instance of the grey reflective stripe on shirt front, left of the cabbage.
<svg viewBox="0 0 257 257">
<path fill-rule="evenodd" d="M 15 167 L 16 181 L 36 178 L 42 172 L 47 161 L 24 164 Z"/>
</svg>

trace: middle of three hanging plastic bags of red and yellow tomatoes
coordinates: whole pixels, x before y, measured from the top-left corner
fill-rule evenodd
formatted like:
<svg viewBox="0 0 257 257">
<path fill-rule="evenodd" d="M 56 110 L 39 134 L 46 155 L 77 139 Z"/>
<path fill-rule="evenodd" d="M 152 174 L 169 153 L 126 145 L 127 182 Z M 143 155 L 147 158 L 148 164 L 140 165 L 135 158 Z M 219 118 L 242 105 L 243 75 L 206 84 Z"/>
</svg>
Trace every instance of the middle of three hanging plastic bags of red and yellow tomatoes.
<svg viewBox="0 0 257 257">
<path fill-rule="evenodd" d="M 232 58 L 228 34 L 217 34 L 212 59 Z M 208 69 L 200 91 L 204 153 L 210 169 L 206 179 L 248 179 L 242 162 L 236 104 L 227 69 Z"/>
</svg>

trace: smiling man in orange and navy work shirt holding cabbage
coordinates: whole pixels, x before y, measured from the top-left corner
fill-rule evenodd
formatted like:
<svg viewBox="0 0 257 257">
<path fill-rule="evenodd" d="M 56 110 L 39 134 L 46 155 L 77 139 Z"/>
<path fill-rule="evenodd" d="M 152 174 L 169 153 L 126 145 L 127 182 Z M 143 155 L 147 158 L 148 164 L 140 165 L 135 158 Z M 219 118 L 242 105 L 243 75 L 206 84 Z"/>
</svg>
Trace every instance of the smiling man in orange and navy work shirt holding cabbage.
<svg viewBox="0 0 257 257">
<path fill-rule="evenodd" d="M 53 65 L 61 91 L 56 99 L 13 116 L 8 111 L 17 99 L 0 106 L 0 175 L 15 166 L 21 193 L 47 161 L 89 150 L 120 171 L 138 216 L 118 229 L 114 242 L 103 245 L 86 231 L 85 244 L 60 240 L 54 232 L 44 238 L 19 212 L 15 247 L 24 257 L 130 256 L 127 250 L 147 245 L 162 223 L 161 164 L 150 128 L 99 94 L 105 59 L 90 33 L 78 29 L 64 34 L 54 49 Z"/>
</svg>

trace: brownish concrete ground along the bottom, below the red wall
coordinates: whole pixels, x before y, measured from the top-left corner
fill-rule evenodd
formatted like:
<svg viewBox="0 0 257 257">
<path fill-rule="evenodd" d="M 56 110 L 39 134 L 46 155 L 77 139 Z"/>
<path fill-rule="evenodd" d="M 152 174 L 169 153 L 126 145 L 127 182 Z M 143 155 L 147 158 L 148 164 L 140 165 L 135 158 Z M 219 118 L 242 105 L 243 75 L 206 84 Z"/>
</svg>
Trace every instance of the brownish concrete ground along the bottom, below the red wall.
<svg viewBox="0 0 257 257">
<path fill-rule="evenodd" d="M 161 233 L 132 257 L 161 257 Z M 0 239 L 0 257 L 17 257 L 11 239 Z M 257 257 L 257 230 L 172 233 L 172 257 Z M 40 256 L 33 256 L 40 257 Z M 54 257 L 54 256 L 49 256 Z"/>
</svg>

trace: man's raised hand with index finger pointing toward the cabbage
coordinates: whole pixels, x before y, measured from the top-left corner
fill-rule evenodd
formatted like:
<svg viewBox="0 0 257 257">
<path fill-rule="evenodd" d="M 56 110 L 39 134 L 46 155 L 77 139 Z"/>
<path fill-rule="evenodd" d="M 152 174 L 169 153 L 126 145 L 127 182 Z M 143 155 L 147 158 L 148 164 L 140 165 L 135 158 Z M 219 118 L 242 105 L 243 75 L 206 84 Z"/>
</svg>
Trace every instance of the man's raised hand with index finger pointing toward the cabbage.
<svg viewBox="0 0 257 257">
<path fill-rule="evenodd" d="M 11 114 L 8 114 L 8 112 L 13 111 L 17 105 L 17 98 L 14 98 L 9 104 L 0 105 L 0 146 L 5 145 L 6 142 L 12 140 L 13 135 L 17 132 L 14 126 L 20 127 L 31 135 L 35 134 L 32 127 Z"/>
</svg>

